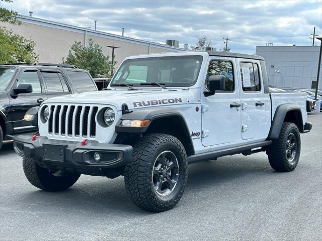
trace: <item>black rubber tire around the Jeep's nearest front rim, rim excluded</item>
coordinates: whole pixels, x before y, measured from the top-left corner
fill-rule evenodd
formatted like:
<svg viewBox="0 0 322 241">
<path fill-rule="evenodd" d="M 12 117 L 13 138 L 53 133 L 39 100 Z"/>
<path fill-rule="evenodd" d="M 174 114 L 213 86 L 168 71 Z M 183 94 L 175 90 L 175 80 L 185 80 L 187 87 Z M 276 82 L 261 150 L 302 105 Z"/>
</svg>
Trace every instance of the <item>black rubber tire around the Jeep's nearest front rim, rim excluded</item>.
<svg viewBox="0 0 322 241">
<path fill-rule="evenodd" d="M 153 186 L 152 172 L 159 154 L 171 151 L 178 160 L 178 181 L 173 191 L 159 195 Z M 162 212 L 172 209 L 182 197 L 188 179 L 187 154 L 182 143 L 167 134 L 147 134 L 133 145 L 133 158 L 125 166 L 126 191 L 135 204 L 148 211 Z"/>
</svg>

